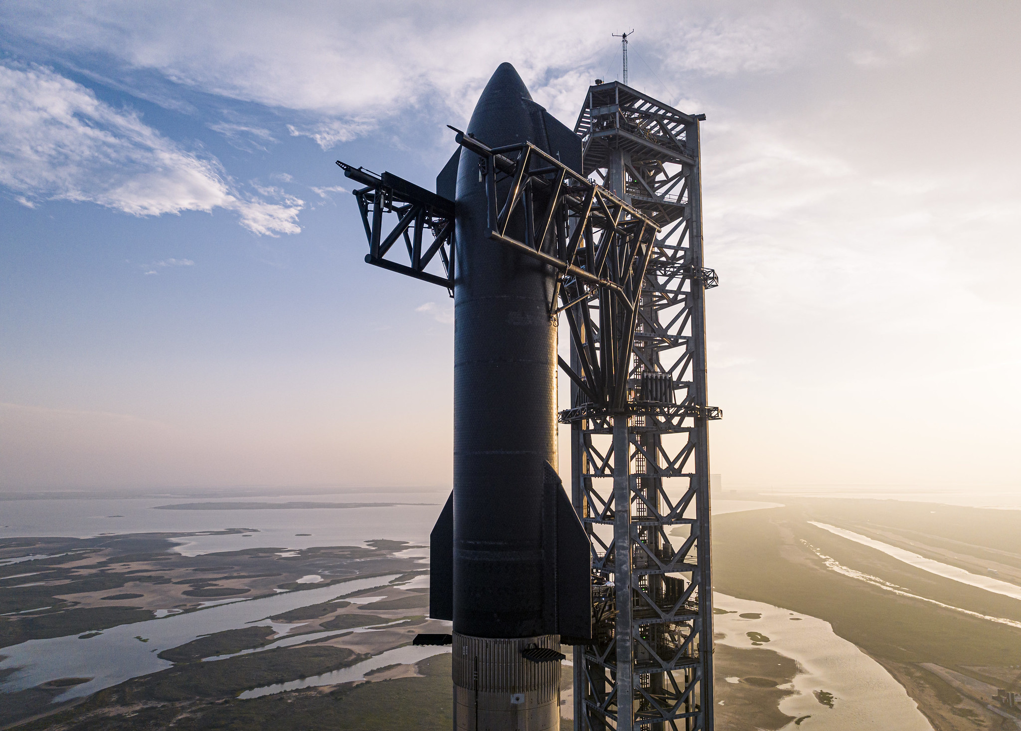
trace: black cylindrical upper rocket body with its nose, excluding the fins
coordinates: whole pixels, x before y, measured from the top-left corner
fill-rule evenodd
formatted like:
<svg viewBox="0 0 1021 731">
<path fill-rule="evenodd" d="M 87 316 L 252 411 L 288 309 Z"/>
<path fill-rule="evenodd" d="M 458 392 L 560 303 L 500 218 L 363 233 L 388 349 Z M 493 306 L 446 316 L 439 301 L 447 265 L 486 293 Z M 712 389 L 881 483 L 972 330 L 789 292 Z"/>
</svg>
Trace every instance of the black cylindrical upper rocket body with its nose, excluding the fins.
<svg viewBox="0 0 1021 731">
<path fill-rule="evenodd" d="M 490 147 L 535 140 L 529 101 L 518 75 L 501 66 L 468 133 Z M 470 152 L 460 155 L 456 196 L 454 627 L 479 637 L 539 635 L 543 472 L 556 464 L 553 277 L 487 238 L 485 184 Z M 524 239 L 523 230 L 510 235 Z"/>
</svg>

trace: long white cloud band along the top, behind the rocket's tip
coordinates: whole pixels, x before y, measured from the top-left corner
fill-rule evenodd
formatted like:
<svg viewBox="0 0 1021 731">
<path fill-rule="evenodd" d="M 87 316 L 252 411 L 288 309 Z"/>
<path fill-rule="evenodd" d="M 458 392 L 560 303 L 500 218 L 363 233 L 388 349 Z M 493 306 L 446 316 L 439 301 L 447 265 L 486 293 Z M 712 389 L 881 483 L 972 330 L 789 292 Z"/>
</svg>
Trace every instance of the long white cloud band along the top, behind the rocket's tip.
<svg viewBox="0 0 1021 731">
<path fill-rule="evenodd" d="M 689 75 L 774 70 L 816 43 L 810 11 L 796 4 L 761 10 L 724 3 L 712 11 L 686 5 L 682 13 L 668 0 L 643 6 L 658 21 L 639 29 L 637 43 L 650 58 L 666 59 L 667 68 Z M 244 13 L 117 0 L 12 0 L 0 8 L 7 33 L 59 57 L 102 54 L 119 67 L 111 75 L 155 72 L 183 90 L 300 112 L 291 115 L 289 134 L 323 149 L 408 109 L 458 121 L 502 61 L 515 63 L 536 101 L 571 121 L 579 93 L 595 76 L 617 77 L 620 47 L 611 33 L 632 15 L 610 0 L 594 0 L 585 12 L 543 0 L 438 0 L 385 13 L 372 3 L 325 0 L 262 2 Z M 514 43 L 494 42 L 493 28 Z M 670 85 L 680 88 L 677 82 Z M 247 136 L 245 144 L 268 141 L 236 127 L 222 132 Z"/>
</svg>

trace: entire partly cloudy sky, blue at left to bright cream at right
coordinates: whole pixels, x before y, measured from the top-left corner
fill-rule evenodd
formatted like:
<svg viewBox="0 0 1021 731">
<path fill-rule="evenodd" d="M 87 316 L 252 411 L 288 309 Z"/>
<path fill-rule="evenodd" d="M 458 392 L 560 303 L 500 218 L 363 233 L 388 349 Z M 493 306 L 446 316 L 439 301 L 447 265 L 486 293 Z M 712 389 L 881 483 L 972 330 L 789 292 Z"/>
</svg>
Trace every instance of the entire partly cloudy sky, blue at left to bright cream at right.
<svg viewBox="0 0 1021 731">
<path fill-rule="evenodd" d="M 489 76 L 704 113 L 725 488 L 1021 489 L 1021 5 L 0 0 L 0 489 L 450 484 L 432 187 Z M 562 475 L 567 476 L 562 439 Z"/>
</svg>

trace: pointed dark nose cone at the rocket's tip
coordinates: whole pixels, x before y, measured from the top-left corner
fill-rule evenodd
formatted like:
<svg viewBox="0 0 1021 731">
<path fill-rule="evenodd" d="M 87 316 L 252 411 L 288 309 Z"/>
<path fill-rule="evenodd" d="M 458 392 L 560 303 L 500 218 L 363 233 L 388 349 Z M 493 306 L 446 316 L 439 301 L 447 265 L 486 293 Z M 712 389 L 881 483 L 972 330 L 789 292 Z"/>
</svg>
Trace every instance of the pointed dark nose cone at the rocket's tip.
<svg viewBox="0 0 1021 731">
<path fill-rule="evenodd" d="M 524 142 L 531 132 L 530 104 L 532 95 L 517 69 L 501 63 L 475 105 L 468 132 L 491 147 Z"/>
</svg>

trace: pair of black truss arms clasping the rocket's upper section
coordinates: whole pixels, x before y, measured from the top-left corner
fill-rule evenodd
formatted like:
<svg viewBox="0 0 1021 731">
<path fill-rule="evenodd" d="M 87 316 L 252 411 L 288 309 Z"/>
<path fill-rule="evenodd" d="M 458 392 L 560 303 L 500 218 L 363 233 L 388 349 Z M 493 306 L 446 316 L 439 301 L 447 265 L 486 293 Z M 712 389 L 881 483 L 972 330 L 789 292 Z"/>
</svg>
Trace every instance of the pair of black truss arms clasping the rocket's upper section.
<svg viewBox="0 0 1021 731">
<path fill-rule="evenodd" d="M 587 407 L 626 408 L 632 334 L 641 316 L 645 272 L 659 227 L 530 142 L 491 149 L 460 132 L 455 139 L 477 156 L 486 181 L 492 245 L 506 246 L 552 270 L 548 314 L 551 320 L 564 314 L 579 353 L 574 366 L 562 358 L 561 367 L 585 394 Z M 353 191 L 369 241 L 366 261 L 452 290 L 452 202 L 389 173 L 376 176 L 339 160 L 337 164 L 348 178 L 366 184 Z M 498 184 L 505 193 L 497 193 Z M 387 214 L 397 218 L 392 228 L 385 226 Z M 523 241 L 507 235 L 515 216 L 524 218 Z M 401 240 L 403 247 L 397 245 Z M 407 263 L 394 258 L 401 251 L 406 251 Z M 426 270 L 437 255 L 446 277 Z"/>
</svg>

